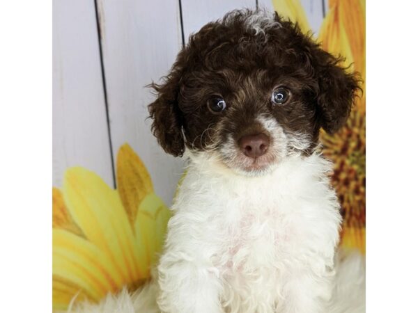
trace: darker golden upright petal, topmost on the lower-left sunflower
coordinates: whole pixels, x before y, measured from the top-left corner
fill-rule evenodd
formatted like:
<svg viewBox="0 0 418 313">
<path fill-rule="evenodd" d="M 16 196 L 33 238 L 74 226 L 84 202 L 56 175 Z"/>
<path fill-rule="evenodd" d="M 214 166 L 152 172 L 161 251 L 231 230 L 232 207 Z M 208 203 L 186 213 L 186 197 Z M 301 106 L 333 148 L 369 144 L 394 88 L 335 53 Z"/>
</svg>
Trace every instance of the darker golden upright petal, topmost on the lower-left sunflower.
<svg viewBox="0 0 418 313">
<path fill-rule="evenodd" d="M 133 225 L 139 203 L 154 189 L 144 163 L 127 143 L 118 152 L 116 182 L 123 206 Z"/>
</svg>

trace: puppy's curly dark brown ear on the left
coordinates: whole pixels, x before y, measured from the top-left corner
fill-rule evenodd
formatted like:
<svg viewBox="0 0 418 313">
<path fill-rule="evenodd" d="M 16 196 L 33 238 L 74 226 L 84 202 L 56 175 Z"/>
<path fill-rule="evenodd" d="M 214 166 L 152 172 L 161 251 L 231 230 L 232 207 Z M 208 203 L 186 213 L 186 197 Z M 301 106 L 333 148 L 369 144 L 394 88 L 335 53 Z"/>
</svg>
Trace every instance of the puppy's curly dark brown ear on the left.
<svg viewBox="0 0 418 313">
<path fill-rule="evenodd" d="M 150 118 L 153 119 L 151 131 L 165 152 L 181 157 L 185 150 L 182 133 L 182 114 L 178 107 L 179 75 L 172 72 L 165 83 L 152 87 L 157 99 L 148 105 Z"/>
</svg>

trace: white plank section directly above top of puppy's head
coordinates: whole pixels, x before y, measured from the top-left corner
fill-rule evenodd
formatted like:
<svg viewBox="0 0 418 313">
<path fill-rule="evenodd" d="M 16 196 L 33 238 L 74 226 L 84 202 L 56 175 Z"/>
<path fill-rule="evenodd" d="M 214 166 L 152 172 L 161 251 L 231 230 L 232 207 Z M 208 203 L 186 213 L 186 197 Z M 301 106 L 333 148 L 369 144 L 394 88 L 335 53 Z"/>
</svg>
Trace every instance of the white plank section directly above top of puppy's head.
<svg viewBox="0 0 418 313">
<path fill-rule="evenodd" d="M 220 19 L 231 10 L 256 8 L 255 0 L 181 0 L 181 3 L 186 42 L 191 33 L 196 33 L 204 24 Z"/>
</svg>

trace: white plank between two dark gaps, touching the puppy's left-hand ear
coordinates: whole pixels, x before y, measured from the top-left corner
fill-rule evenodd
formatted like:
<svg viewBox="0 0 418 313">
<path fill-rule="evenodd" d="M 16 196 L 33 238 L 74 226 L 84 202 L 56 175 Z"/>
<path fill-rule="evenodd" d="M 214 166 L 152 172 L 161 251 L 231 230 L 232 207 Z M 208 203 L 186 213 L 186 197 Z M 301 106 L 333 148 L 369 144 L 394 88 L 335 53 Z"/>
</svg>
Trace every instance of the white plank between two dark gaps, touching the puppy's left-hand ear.
<svg viewBox="0 0 418 313">
<path fill-rule="evenodd" d="M 127 142 L 171 204 L 183 163 L 165 154 L 150 132 L 151 81 L 166 75 L 182 45 L 178 1 L 99 0 L 111 138 L 116 158 Z"/>
</svg>

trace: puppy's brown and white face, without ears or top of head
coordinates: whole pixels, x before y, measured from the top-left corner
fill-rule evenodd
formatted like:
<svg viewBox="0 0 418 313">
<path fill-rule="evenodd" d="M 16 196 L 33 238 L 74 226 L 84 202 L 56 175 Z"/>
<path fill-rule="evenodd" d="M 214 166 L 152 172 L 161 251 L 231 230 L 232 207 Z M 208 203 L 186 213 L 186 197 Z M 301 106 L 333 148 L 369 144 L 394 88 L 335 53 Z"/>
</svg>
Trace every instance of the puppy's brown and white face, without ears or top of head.
<svg viewBox="0 0 418 313">
<path fill-rule="evenodd" d="M 227 54 L 236 46 L 224 45 Z M 235 53 L 233 55 L 236 55 Z M 319 125 L 307 81 L 286 69 L 284 58 L 263 68 L 225 60 L 219 69 L 195 70 L 180 89 L 185 144 L 229 168 L 260 174 L 293 152 L 309 153 Z M 263 58 L 262 58 L 263 59 Z M 260 66 L 261 65 L 261 66 Z"/>
</svg>

